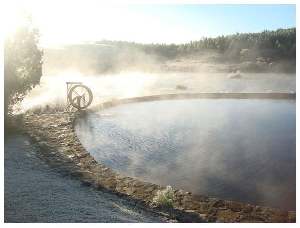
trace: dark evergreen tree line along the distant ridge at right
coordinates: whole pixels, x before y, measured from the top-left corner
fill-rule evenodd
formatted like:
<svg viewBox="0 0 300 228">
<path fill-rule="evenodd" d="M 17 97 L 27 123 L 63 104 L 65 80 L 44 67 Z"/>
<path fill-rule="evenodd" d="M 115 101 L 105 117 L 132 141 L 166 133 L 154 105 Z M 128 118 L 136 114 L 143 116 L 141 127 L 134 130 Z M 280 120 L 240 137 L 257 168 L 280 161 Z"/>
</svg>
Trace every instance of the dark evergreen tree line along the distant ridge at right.
<svg viewBox="0 0 300 228">
<path fill-rule="evenodd" d="M 202 37 L 200 40 L 185 44 L 141 44 L 111 40 L 100 40 L 96 43 L 143 51 L 146 54 L 162 55 L 167 58 L 196 54 L 205 50 L 217 50 L 234 58 L 240 57 L 243 49 L 248 49 L 253 58 L 261 56 L 274 60 L 294 60 L 296 57 L 296 28 L 264 30 L 259 33 L 236 33 L 215 38 Z"/>
</svg>

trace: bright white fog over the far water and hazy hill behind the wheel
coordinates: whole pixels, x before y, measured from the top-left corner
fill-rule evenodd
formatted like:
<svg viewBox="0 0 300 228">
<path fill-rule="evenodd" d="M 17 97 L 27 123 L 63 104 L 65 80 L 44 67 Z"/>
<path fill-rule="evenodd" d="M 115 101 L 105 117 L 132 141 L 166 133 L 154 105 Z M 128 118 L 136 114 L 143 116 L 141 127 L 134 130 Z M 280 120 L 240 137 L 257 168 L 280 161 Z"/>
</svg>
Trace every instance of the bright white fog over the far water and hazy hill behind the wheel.
<svg viewBox="0 0 300 228">
<path fill-rule="evenodd" d="M 295 92 L 294 73 L 240 71 L 229 77 L 230 65 L 216 63 L 216 53 L 195 58 L 167 59 L 113 45 L 82 44 L 40 47 L 43 76 L 24 99 L 20 112 L 67 107 L 66 82 L 83 82 L 93 92 L 90 107 L 120 98 L 170 93 Z M 198 58 L 198 57 L 197 57 Z M 193 65 L 200 65 L 195 70 Z M 183 71 L 185 65 L 186 71 Z M 190 67 L 190 68 L 188 68 Z M 226 68 L 227 67 L 227 68 Z M 187 90 L 176 89 L 177 85 Z M 51 109 L 51 107 L 53 107 Z"/>
</svg>

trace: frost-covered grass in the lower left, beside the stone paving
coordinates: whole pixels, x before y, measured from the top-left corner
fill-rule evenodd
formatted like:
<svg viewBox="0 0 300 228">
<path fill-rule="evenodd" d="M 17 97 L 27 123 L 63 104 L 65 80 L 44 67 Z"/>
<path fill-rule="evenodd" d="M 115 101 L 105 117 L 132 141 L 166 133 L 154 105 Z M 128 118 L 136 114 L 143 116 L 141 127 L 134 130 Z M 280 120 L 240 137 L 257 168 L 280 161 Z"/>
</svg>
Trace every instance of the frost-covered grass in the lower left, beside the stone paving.
<svg viewBox="0 0 300 228">
<path fill-rule="evenodd" d="M 5 222 L 165 222 L 61 176 L 35 157 L 34 150 L 26 136 L 5 138 Z"/>
</svg>

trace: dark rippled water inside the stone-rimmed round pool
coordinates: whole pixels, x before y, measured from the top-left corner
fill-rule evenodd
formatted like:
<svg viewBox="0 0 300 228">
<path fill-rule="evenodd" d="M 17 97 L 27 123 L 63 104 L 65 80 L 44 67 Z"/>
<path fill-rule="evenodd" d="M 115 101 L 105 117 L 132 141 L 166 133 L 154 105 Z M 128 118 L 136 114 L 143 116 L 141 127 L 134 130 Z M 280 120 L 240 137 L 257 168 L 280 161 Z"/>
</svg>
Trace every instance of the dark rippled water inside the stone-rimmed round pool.
<svg viewBox="0 0 300 228">
<path fill-rule="evenodd" d="M 198 194 L 295 210 L 295 101 L 172 100 L 79 120 L 95 159 Z"/>
</svg>

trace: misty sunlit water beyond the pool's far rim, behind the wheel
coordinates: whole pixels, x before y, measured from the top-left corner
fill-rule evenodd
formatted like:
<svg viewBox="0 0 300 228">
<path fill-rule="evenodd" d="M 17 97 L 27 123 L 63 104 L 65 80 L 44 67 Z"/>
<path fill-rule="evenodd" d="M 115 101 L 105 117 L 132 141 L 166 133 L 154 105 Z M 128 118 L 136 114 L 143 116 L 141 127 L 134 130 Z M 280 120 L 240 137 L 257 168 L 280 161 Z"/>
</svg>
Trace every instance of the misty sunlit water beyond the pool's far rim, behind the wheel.
<svg viewBox="0 0 300 228">
<path fill-rule="evenodd" d="M 82 76 L 76 71 L 41 78 L 23 102 L 23 109 L 53 102 L 67 106 L 66 82 L 79 81 L 90 87 L 94 100 L 90 107 L 113 99 L 170 93 L 287 93 L 296 91 L 295 74 L 241 73 L 241 78 L 228 78 L 227 73 L 122 73 L 117 75 Z M 187 90 L 176 90 L 177 85 Z M 51 105 L 51 104 L 50 104 Z M 57 105 L 57 104 L 56 104 Z"/>
</svg>

